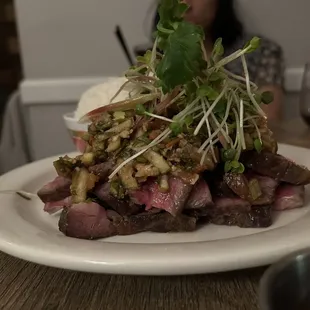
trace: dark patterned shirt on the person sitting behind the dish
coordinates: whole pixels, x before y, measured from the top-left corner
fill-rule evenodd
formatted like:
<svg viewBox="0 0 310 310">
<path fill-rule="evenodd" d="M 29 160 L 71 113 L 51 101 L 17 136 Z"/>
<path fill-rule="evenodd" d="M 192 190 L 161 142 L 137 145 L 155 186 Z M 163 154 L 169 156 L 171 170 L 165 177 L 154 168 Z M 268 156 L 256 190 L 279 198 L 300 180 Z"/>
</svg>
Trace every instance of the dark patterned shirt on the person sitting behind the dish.
<svg viewBox="0 0 310 310">
<path fill-rule="evenodd" d="M 253 38 L 253 35 L 245 35 L 239 39 L 232 47 L 225 51 L 225 56 L 235 52 Z M 268 39 L 261 38 L 260 47 L 249 54 L 246 54 L 246 60 L 250 78 L 258 86 L 284 85 L 285 62 L 282 49 L 276 43 Z M 240 59 L 229 63 L 226 67 L 234 74 L 244 76 L 243 67 Z"/>
</svg>

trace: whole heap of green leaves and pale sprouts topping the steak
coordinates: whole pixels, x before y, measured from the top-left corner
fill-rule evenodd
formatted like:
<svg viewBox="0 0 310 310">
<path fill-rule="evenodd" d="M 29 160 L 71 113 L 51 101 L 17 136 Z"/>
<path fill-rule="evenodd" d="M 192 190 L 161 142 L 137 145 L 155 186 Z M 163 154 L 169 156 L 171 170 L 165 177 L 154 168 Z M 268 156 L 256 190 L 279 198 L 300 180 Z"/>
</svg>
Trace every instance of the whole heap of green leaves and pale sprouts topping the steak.
<svg viewBox="0 0 310 310">
<path fill-rule="evenodd" d="M 154 150 L 162 141 L 183 133 L 184 139 L 197 146 L 200 165 L 207 156 L 216 164 L 220 151 L 226 172 L 243 173 L 241 154 L 253 149 L 253 143 L 257 152 L 263 150 L 261 136 L 266 125 L 261 122 L 265 117 L 261 104 L 273 101 L 270 92 L 260 93 L 251 82 L 246 63 L 246 54 L 259 47 L 260 39 L 254 37 L 243 48 L 224 56 L 219 38 L 212 54 L 207 55 L 203 29 L 183 18 L 187 9 L 182 0 L 160 1 L 153 49 L 138 57 L 138 66 L 128 73 L 128 79 L 138 86 L 130 96 L 154 95 L 145 105 L 136 106 L 136 114 L 164 122 L 160 123 L 161 133 L 144 143 L 141 152 Z M 227 66 L 238 59 L 243 67 L 240 75 L 230 72 Z M 253 141 L 253 135 L 259 139 Z M 109 178 L 117 176 L 122 167 L 139 156 L 131 154 Z"/>
</svg>

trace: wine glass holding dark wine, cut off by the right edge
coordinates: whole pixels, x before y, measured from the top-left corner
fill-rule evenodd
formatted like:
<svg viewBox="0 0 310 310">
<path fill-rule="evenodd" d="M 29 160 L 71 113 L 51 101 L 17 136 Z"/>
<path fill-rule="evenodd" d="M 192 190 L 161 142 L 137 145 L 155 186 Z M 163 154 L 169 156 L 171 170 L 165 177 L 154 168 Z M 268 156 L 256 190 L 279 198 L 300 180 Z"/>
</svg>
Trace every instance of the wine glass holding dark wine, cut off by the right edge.
<svg viewBox="0 0 310 310">
<path fill-rule="evenodd" d="M 300 114 L 305 123 L 310 126 L 310 63 L 305 65 L 299 103 Z"/>
</svg>

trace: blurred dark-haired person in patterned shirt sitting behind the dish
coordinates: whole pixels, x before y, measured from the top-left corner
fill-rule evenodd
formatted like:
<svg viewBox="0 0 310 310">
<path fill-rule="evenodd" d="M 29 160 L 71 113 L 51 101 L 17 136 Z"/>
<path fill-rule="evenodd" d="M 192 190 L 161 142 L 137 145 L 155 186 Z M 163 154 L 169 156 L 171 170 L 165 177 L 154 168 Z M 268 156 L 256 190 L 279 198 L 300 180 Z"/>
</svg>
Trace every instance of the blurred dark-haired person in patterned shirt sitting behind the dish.
<svg viewBox="0 0 310 310">
<path fill-rule="evenodd" d="M 250 41 L 254 35 L 244 31 L 234 7 L 234 0 L 185 0 L 190 7 L 185 19 L 188 22 L 202 26 L 205 29 L 205 48 L 211 54 L 213 44 L 218 38 L 223 39 L 225 56 L 232 54 Z M 158 13 L 155 16 L 154 27 L 158 23 Z M 261 37 L 261 36 L 260 36 Z M 247 64 L 250 78 L 260 91 L 271 91 L 274 102 L 264 110 L 269 120 L 281 117 L 283 99 L 284 59 L 280 46 L 261 37 L 261 46 L 251 54 L 247 54 Z M 229 63 L 226 67 L 234 74 L 244 75 L 240 60 Z"/>
</svg>

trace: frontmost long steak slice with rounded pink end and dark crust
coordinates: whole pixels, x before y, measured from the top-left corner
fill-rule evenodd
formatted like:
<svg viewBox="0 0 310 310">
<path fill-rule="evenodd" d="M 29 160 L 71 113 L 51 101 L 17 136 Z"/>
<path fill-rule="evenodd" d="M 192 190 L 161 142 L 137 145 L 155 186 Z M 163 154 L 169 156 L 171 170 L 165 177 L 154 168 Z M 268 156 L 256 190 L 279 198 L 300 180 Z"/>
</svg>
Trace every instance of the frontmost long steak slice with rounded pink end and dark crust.
<svg viewBox="0 0 310 310">
<path fill-rule="evenodd" d="M 144 213 L 121 217 L 106 211 L 96 203 L 80 203 L 65 208 L 59 220 L 59 230 L 80 239 L 100 239 L 115 235 L 133 235 L 144 231 L 179 232 L 196 229 L 196 219 L 164 213 Z"/>
</svg>

